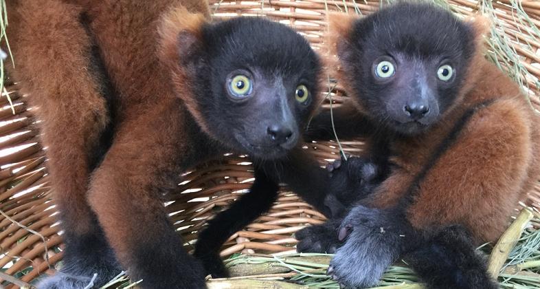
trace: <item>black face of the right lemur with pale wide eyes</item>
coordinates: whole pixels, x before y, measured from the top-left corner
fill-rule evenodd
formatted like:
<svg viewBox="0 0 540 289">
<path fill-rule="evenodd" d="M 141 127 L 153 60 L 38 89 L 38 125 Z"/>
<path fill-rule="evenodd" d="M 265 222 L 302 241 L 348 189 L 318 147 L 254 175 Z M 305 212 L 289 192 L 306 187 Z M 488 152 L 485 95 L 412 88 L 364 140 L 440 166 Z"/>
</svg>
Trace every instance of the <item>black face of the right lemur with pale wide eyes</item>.
<svg viewBox="0 0 540 289">
<path fill-rule="evenodd" d="M 396 5 L 357 21 L 342 57 L 368 114 L 405 135 L 424 131 L 452 107 L 473 53 L 469 26 L 423 7 Z"/>
</svg>

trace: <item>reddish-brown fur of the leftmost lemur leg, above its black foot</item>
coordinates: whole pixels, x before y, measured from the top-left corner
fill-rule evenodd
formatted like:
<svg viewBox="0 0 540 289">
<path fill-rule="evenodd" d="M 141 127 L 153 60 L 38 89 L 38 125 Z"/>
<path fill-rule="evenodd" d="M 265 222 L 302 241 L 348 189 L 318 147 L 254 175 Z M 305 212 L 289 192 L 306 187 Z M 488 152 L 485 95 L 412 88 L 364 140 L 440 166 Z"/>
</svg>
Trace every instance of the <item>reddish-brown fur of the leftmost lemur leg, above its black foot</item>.
<svg viewBox="0 0 540 289">
<path fill-rule="evenodd" d="M 21 81 L 21 91 L 30 94 L 30 103 L 43 120 L 56 205 L 65 214 L 78 216 L 67 226 L 86 233 L 91 230 L 85 201 L 90 152 L 109 116 L 89 74 L 90 41 L 78 22 L 80 8 L 49 0 L 7 4 L 16 67 L 12 75 Z"/>
</svg>

